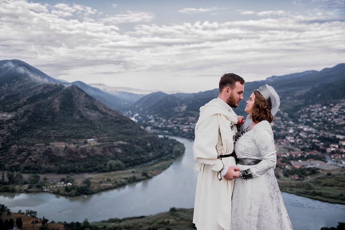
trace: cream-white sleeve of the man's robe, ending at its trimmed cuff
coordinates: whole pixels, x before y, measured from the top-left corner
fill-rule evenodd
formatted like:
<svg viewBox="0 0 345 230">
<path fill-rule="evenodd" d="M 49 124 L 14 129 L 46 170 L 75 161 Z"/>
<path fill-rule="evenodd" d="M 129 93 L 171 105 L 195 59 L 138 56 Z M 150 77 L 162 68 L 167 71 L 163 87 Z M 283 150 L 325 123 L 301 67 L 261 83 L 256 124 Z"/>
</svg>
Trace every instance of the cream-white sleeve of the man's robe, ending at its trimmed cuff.
<svg viewBox="0 0 345 230">
<path fill-rule="evenodd" d="M 217 115 L 210 116 L 199 124 L 195 132 L 194 159 L 210 169 L 221 172 L 224 169 L 223 162 L 219 159 L 217 149 L 219 124 Z"/>
</svg>

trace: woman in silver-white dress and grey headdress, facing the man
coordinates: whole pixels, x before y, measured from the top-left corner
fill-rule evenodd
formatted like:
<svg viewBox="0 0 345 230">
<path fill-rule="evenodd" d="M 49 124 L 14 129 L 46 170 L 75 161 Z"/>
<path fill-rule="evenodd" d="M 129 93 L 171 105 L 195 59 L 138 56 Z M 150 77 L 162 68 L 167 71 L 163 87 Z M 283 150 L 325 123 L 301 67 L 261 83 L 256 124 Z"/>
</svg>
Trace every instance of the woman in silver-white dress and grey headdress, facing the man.
<svg viewBox="0 0 345 230">
<path fill-rule="evenodd" d="M 272 86 L 254 90 L 246 102 L 249 113 L 235 137 L 240 178 L 232 196 L 231 230 L 292 229 L 274 175 L 277 156 L 270 123 L 280 99 Z"/>
</svg>

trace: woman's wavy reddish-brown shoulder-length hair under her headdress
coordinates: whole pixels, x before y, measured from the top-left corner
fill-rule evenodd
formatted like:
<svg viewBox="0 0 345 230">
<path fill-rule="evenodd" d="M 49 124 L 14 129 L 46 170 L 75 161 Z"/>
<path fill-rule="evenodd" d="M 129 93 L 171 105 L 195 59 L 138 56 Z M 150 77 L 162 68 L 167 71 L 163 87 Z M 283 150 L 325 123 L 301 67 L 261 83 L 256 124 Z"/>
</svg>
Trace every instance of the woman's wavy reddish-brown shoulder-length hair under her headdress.
<svg viewBox="0 0 345 230">
<path fill-rule="evenodd" d="M 255 99 L 252 110 L 250 111 L 250 118 L 252 118 L 255 123 L 261 121 L 268 121 L 271 123 L 274 118 L 271 113 L 271 106 L 269 106 L 268 102 L 259 91 L 254 90 L 253 93 L 255 94 Z"/>
</svg>

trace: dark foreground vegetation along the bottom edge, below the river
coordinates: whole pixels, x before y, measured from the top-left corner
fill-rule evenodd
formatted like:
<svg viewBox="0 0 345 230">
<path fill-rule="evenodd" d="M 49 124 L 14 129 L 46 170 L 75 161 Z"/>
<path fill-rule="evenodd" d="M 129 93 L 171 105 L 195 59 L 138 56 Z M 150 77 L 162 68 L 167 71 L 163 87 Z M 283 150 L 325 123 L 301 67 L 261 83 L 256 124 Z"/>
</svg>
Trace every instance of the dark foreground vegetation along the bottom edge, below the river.
<svg viewBox="0 0 345 230">
<path fill-rule="evenodd" d="M 110 218 L 109 220 L 97 221 L 89 223 L 87 219 L 81 222 L 58 222 L 53 221 L 48 223 L 49 220 L 37 219 L 36 216 L 31 217 L 37 212 L 33 210 L 27 210 L 26 215 L 24 213 L 11 213 L 8 207 L 0 204 L 1 210 L 5 210 L 0 217 L 4 218 L 20 217 L 23 219 L 22 230 L 193 230 L 195 224 L 193 224 L 193 211 L 194 209 L 185 208 L 170 208 L 168 212 L 158 213 L 152 216 L 139 216 L 128 217 L 123 219 Z M 10 214 L 7 214 L 8 211 Z M 29 216 L 31 215 L 31 216 Z M 36 223 L 37 222 L 37 223 Z M 1 224 L 1 222 L 0 222 Z M 3 226 L 3 225 L 2 225 Z M 14 226 L 17 226 L 14 224 Z M 321 230 L 342 230 L 345 223 L 338 222 L 337 227 L 322 227 Z M 1 228 L 0 226 L 0 229 Z M 7 230 L 6 228 L 4 230 Z"/>
</svg>

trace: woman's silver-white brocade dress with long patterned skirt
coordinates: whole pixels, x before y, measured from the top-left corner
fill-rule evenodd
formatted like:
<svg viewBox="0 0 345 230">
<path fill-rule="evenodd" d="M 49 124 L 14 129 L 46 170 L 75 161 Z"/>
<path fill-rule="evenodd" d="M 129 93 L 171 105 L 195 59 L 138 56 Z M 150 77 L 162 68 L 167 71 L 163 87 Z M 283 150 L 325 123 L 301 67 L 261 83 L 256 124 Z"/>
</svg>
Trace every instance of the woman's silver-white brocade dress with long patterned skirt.
<svg viewBox="0 0 345 230">
<path fill-rule="evenodd" d="M 244 124 L 246 125 L 246 124 Z M 272 127 L 259 122 L 243 134 L 235 144 L 237 158 L 262 159 L 250 168 L 253 178 L 235 179 L 232 197 L 231 230 L 292 229 L 274 168 L 277 156 Z"/>
</svg>

